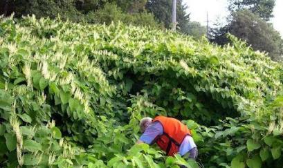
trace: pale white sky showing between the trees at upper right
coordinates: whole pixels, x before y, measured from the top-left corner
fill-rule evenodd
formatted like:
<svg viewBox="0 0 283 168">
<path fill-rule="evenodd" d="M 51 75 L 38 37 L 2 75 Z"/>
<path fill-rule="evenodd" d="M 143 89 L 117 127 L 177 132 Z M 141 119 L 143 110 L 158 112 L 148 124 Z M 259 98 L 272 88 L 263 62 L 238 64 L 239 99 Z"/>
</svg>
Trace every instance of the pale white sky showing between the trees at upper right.
<svg viewBox="0 0 283 168">
<path fill-rule="evenodd" d="M 210 26 L 216 23 L 226 23 L 226 17 L 229 15 L 227 10 L 227 0 L 183 0 L 189 7 L 191 21 L 199 21 L 203 26 L 206 26 L 206 13 L 208 12 L 208 20 Z M 276 0 L 273 9 L 274 18 L 271 23 L 275 30 L 280 32 L 283 37 L 283 0 Z"/>
</svg>

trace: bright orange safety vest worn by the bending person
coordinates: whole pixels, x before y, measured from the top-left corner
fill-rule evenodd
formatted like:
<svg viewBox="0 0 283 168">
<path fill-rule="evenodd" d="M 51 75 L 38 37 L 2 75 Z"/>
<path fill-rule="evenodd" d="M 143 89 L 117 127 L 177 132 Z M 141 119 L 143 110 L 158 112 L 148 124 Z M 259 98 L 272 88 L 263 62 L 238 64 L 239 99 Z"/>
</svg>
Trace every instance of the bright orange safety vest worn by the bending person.
<svg viewBox="0 0 283 168">
<path fill-rule="evenodd" d="M 163 134 L 157 136 L 153 142 L 166 151 L 167 156 L 174 156 L 175 153 L 178 153 L 185 136 L 192 136 L 190 129 L 175 118 L 157 116 L 153 122 L 160 122 L 163 126 Z"/>
</svg>

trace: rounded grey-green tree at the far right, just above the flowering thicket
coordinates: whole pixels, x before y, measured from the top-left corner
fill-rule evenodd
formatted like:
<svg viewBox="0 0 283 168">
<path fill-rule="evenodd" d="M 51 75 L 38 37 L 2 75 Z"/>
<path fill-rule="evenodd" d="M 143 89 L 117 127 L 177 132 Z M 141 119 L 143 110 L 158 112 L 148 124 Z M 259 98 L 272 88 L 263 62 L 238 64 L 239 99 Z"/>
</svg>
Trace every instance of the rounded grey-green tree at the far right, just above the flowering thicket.
<svg viewBox="0 0 283 168">
<path fill-rule="evenodd" d="M 232 13 L 230 24 L 220 28 L 218 34 L 212 33 L 214 34 L 212 41 L 217 44 L 227 44 L 229 41 L 226 38 L 227 32 L 246 41 L 254 50 L 268 52 L 271 59 L 275 61 L 282 59 L 280 33 L 274 30 L 272 24 L 266 23 L 250 10 L 239 10 Z"/>
</svg>

